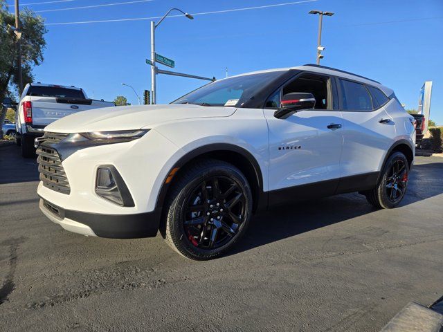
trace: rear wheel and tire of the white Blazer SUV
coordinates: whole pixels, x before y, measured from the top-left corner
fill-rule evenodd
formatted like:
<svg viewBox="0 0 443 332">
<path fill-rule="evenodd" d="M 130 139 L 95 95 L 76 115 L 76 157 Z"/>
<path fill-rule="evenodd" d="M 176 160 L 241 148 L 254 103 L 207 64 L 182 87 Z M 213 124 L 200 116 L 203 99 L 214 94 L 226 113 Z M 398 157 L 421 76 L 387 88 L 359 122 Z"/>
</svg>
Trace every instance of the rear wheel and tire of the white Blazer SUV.
<svg viewBox="0 0 443 332">
<path fill-rule="evenodd" d="M 377 187 L 365 192 L 369 203 L 377 208 L 397 207 L 406 194 L 409 179 L 409 163 L 401 152 L 394 152 L 386 160 Z"/>
</svg>

